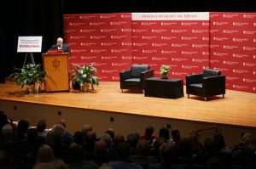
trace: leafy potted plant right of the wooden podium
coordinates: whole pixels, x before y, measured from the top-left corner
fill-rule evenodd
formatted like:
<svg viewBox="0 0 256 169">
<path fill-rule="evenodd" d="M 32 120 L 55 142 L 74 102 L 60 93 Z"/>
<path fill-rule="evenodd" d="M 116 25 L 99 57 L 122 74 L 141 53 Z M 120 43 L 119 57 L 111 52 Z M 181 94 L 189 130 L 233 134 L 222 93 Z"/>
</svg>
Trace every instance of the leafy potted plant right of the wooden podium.
<svg viewBox="0 0 256 169">
<path fill-rule="evenodd" d="M 70 71 L 73 89 L 88 91 L 91 86 L 91 89 L 94 90 L 94 85 L 99 85 L 98 77 L 95 76 L 96 72 L 97 70 L 92 63 L 89 65 L 73 64 Z"/>
</svg>

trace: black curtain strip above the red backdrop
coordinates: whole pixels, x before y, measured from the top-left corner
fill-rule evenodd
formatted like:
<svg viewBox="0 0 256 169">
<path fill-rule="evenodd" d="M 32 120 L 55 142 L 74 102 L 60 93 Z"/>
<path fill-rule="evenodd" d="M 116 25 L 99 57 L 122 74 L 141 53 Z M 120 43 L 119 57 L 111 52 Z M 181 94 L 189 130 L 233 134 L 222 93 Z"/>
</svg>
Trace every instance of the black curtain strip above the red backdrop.
<svg viewBox="0 0 256 169">
<path fill-rule="evenodd" d="M 253 0 L 63 0 L 65 14 L 125 12 L 254 12 Z"/>
</svg>

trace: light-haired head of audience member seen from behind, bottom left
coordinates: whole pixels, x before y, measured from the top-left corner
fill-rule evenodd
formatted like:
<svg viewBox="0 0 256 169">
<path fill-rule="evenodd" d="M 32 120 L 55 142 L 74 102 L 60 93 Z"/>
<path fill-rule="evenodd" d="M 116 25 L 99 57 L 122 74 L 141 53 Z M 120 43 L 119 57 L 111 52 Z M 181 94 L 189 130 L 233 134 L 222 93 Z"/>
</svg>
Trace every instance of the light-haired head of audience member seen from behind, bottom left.
<svg viewBox="0 0 256 169">
<path fill-rule="evenodd" d="M 53 150 L 47 144 L 41 145 L 38 149 L 37 163 L 53 161 L 55 161 Z"/>
</svg>

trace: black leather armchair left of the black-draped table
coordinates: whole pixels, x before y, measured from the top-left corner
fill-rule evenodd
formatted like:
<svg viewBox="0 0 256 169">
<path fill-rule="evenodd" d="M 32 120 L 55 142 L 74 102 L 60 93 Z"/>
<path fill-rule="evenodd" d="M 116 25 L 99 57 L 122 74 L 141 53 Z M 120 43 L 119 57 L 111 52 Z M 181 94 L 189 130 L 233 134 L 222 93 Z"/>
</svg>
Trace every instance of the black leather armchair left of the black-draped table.
<svg viewBox="0 0 256 169">
<path fill-rule="evenodd" d="M 130 70 L 119 72 L 120 89 L 144 90 L 145 80 L 154 76 L 154 70 L 149 65 L 131 65 Z"/>
</svg>

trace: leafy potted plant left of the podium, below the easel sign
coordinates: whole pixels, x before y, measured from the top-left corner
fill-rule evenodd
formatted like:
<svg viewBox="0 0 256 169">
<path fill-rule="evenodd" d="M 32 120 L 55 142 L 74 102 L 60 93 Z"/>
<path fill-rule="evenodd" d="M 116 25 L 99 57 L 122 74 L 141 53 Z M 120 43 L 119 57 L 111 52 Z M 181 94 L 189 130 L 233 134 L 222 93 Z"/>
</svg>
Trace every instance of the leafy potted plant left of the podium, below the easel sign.
<svg viewBox="0 0 256 169">
<path fill-rule="evenodd" d="M 28 89 L 29 93 L 33 93 L 35 86 L 42 87 L 46 74 L 47 71 L 43 69 L 41 64 L 27 64 L 22 68 L 15 68 L 14 72 L 9 75 L 9 81 L 16 82 L 21 89 Z"/>
</svg>

